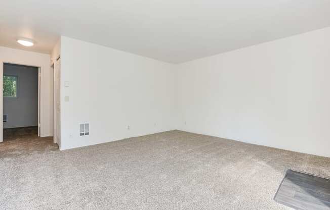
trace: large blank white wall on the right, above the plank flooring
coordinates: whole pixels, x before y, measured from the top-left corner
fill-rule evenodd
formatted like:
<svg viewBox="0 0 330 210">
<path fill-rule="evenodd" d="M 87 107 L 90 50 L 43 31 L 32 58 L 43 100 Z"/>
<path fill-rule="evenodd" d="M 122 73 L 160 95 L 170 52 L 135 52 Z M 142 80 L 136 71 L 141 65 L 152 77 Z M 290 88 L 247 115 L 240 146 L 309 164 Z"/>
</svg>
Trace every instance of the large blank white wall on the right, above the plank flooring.
<svg viewBox="0 0 330 210">
<path fill-rule="evenodd" d="M 180 64 L 179 129 L 330 157 L 329 37 L 325 28 Z"/>
</svg>

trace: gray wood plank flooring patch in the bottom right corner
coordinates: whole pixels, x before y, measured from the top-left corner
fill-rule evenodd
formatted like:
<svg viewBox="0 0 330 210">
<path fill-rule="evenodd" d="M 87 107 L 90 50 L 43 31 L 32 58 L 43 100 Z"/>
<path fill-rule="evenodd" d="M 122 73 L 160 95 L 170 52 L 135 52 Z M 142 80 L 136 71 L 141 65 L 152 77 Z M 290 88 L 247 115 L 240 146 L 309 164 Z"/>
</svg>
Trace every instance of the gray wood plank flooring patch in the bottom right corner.
<svg viewBox="0 0 330 210">
<path fill-rule="evenodd" d="M 288 170 L 274 200 L 297 210 L 330 210 L 330 179 Z"/>
</svg>

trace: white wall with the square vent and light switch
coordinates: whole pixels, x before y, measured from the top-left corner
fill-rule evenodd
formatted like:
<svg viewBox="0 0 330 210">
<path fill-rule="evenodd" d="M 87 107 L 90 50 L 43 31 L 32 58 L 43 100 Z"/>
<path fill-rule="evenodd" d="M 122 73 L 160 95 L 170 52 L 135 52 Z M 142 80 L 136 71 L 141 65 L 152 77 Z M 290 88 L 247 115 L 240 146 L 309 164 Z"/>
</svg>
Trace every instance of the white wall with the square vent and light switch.
<svg viewBox="0 0 330 210">
<path fill-rule="evenodd" d="M 61 149 L 175 129 L 177 84 L 172 64 L 62 36 Z"/>
</svg>

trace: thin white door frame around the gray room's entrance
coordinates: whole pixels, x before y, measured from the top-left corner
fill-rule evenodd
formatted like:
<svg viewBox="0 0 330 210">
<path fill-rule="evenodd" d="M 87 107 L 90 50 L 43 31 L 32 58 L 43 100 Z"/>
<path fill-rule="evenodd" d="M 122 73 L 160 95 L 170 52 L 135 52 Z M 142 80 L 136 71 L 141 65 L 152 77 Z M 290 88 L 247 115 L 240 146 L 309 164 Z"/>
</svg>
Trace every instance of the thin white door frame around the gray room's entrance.
<svg viewBox="0 0 330 210">
<path fill-rule="evenodd" d="M 16 65 L 22 65 L 22 66 L 31 66 L 31 67 L 37 67 L 38 68 L 38 136 L 43 136 L 43 132 L 41 129 L 42 122 L 40 119 L 42 119 L 43 113 L 42 113 L 42 107 L 43 107 L 43 77 L 42 77 L 42 69 L 44 67 L 42 65 L 35 65 L 30 63 L 20 63 L 15 61 L 1 61 L 0 62 L 0 142 L 4 141 L 4 65 L 5 64 L 16 64 Z"/>
</svg>

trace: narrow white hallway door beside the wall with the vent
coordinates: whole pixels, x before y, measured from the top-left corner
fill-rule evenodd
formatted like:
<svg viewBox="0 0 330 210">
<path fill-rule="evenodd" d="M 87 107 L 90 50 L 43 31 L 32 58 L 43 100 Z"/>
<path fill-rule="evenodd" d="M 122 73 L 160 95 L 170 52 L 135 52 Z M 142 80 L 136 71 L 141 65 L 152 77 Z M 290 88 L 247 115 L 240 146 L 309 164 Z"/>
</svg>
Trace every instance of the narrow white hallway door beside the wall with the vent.
<svg viewBox="0 0 330 210">
<path fill-rule="evenodd" d="M 54 64 L 54 141 L 61 148 L 61 59 Z"/>
</svg>

